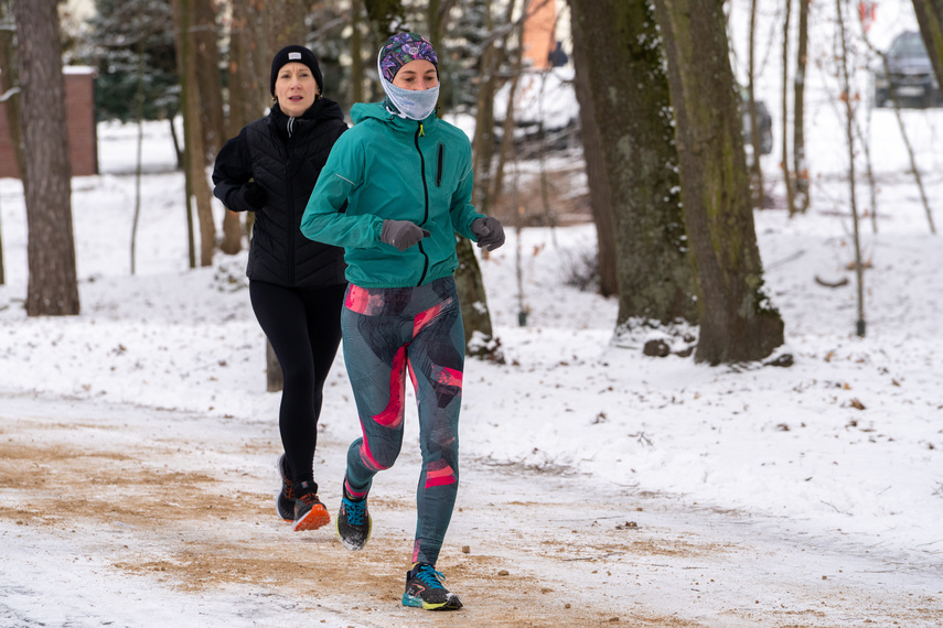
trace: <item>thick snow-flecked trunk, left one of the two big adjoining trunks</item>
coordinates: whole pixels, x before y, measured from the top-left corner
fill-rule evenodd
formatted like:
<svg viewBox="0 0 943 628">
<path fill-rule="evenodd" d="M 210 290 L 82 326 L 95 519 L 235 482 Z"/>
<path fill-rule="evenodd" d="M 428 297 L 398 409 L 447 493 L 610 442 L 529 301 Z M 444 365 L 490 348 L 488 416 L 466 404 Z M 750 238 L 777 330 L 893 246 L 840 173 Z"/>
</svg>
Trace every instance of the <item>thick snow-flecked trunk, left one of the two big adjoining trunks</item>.
<svg viewBox="0 0 943 628">
<path fill-rule="evenodd" d="M 571 0 L 575 39 L 606 42 L 582 55 L 600 133 L 614 226 L 617 332 L 697 320 L 678 193 L 664 57 L 645 0 Z M 731 86 L 732 94 L 732 86 Z"/>
</svg>

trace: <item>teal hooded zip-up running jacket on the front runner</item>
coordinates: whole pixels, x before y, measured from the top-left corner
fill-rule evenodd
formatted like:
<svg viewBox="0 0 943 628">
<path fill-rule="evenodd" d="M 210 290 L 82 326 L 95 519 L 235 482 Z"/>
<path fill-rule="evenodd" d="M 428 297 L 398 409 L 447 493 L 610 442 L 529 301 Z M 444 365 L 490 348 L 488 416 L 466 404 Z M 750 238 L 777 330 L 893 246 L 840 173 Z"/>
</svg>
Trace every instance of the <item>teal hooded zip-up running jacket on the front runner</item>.
<svg viewBox="0 0 943 628">
<path fill-rule="evenodd" d="M 331 150 L 301 232 L 343 247 L 355 285 L 405 288 L 451 275 L 456 234 L 474 240 L 471 224 L 482 217 L 471 204 L 468 136 L 435 113 L 409 120 L 381 102 L 354 105 L 351 116 L 354 127 Z M 399 251 L 379 240 L 385 219 L 411 220 L 431 236 Z"/>
</svg>

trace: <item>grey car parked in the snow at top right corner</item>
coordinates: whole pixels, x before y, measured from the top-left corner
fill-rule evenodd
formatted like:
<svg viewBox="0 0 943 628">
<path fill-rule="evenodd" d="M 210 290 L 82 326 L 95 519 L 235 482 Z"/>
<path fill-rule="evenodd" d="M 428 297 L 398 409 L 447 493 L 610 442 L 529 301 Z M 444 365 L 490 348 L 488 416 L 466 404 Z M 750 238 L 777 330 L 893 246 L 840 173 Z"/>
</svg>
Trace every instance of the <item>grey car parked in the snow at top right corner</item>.
<svg viewBox="0 0 943 628">
<path fill-rule="evenodd" d="M 890 73 L 885 72 L 883 63 L 874 71 L 876 107 L 891 106 L 891 94 L 901 107 L 943 105 L 943 95 L 920 33 L 906 31 L 899 34 L 886 56 Z"/>
</svg>

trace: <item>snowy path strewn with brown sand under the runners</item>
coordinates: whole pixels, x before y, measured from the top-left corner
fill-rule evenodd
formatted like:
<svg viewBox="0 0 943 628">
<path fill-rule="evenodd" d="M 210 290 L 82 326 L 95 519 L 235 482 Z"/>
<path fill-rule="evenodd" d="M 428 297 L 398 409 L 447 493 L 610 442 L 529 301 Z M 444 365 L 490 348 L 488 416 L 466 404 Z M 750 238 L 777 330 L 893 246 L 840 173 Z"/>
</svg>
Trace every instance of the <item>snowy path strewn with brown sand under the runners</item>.
<svg viewBox="0 0 943 628">
<path fill-rule="evenodd" d="M 320 436 L 332 517 L 346 446 Z M 274 421 L 0 396 L 0 626 L 943 624 L 900 551 L 469 453 L 438 565 L 465 606 L 405 608 L 415 438 L 361 552 L 276 516 L 279 453 Z"/>
</svg>

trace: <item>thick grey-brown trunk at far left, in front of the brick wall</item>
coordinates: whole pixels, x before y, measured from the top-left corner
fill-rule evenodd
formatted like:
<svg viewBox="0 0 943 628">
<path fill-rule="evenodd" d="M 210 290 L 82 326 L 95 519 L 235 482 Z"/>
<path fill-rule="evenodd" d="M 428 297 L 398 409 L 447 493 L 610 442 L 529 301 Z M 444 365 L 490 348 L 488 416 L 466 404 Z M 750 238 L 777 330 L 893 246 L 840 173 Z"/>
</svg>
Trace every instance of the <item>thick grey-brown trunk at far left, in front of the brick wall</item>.
<svg viewBox="0 0 943 628">
<path fill-rule="evenodd" d="M 26 314 L 79 312 L 72 229 L 72 164 L 55 0 L 14 0 L 22 88 L 29 240 Z"/>
</svg>

